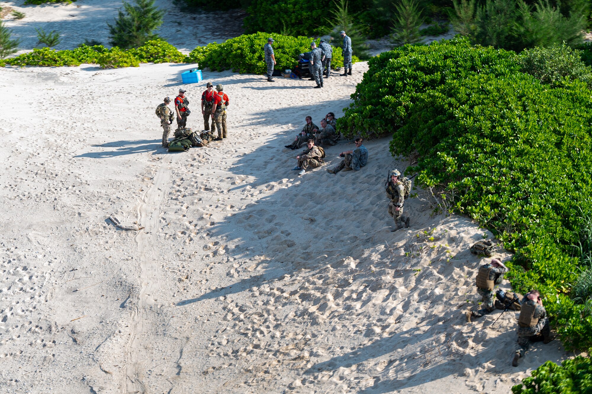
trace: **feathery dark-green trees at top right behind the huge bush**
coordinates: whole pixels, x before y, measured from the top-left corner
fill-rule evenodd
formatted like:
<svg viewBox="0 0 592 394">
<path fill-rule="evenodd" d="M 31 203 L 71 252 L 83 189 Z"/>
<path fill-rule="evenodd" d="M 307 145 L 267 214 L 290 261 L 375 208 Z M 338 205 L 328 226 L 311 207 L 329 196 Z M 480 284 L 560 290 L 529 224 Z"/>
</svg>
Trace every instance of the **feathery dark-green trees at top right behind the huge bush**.
<svg viewBox="0 0 592 394">
<path fill-rule="evenodd" d="M 569 46 L 581 43 L 586 23 L 581 8 L 566 16 L 546 0 L 529 3 L 485 0 L 479 6 L 474 0 L 453 0 L 456 15 L 452 24 L 473 43 L 494 48 L 521 51 L 563 42 Z"/>
</svg>

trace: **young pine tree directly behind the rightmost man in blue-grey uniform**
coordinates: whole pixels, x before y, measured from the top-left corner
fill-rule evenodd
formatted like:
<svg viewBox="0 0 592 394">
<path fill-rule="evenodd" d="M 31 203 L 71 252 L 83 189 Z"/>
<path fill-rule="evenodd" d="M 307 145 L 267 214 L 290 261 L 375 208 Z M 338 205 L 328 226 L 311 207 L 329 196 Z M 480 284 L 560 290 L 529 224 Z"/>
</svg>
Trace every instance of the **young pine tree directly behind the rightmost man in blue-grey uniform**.
<svg viewBox="0 0 592 394">
<path fill-rule="evenodd" d="M 362 60 L 369 59 L 370 54 L 368 44 L 366 44 L 365 28 L 353 22 L 357 14 L 349 13 L 346 0 L 335 1 L 334 4 L 335 7 L 332 9 L 333 20 L 329 21 L 333 25 L 333 30 L 330 33 L 331 37 L 333 37 L 333 46 L 342 46 L 343 38 L 339 32 L 343 30 L 352 39 L 353 54 Z"/>
</svg>

